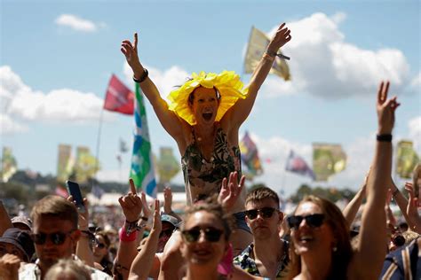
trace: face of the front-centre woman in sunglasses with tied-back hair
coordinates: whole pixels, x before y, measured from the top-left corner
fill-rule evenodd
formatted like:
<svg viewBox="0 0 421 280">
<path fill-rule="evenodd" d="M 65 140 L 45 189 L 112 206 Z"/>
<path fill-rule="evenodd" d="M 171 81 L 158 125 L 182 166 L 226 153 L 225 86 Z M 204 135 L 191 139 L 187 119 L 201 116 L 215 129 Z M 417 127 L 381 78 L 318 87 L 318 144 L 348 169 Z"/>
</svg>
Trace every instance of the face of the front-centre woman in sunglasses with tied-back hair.
<svg viewBox="0 0 421 280">
<path fill-rule="evenodd" d="M 224 231 L 222 222 L 209 212 L 199 211 L 188 217 L 184 230 L 202 229 L 195 242 L 188 242 L 186 237 L 182 237 L 181 253 L 189 265 L 217 268 L 219 261 L 224 257 L 228 248 L 224 234 L 222 233 L 216 242 L 208 241 L 203 230 L 209 228 Z"/>
</svg>

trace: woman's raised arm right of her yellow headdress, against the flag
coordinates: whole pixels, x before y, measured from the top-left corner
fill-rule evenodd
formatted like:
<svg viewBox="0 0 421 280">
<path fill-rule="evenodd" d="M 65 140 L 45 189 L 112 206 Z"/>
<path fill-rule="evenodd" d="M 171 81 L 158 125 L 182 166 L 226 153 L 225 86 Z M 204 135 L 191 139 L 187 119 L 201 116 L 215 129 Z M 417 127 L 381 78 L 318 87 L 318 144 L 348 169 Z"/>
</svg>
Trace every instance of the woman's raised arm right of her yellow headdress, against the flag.
<svg viewBox="0 0 421 280">
<path fill-rule="evenodd" d="M 228 119 L 232 128 L 240 128 L 243 121 L 249 116 L 251 109 L 254 105 L 254 101 L 258 96 L 258 89 L 260 89 L 263 82 L 266 80 L 267 74 L 274 64 L 275 54 L 285 44 L 290 42 L 291 35 L 290 29 L 285 27 L 285 23 L 282 23 L 278 27 L 274 37 L 267 45 L 266 52 L 258 62 L 258 66 L 251 75 L 250 83 L 248 88 L 247 97 L 245 99 L 239 99 L 233 108 L 228 112 Z"/>
</svg>

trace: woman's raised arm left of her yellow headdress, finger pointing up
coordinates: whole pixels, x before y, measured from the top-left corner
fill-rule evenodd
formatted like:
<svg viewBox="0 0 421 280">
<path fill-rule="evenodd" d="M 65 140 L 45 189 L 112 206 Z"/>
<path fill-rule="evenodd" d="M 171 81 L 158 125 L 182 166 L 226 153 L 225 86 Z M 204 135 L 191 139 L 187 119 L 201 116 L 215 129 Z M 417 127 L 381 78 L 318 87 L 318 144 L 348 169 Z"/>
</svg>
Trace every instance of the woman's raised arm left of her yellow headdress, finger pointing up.
<svg viewBox="0 0 421 280">
<path fill-rule="evenodd" d="M 138 34 L 134 34 L 134 42 L 124 40 L 122 43 L 121 51 L 126 57 L 127 63 L 131 66 L 133 71 L 133 78 L 139 80 L 146 72 L 145 68 L 141 65 L 138 56 Z M 182 127 L 179 117 L 168 109 L 168 105 L 161 97 L 155 83 L 147 76 L 144 82 L 139 82 L 140 88 L 143 93 L 154 107 L 154 111 L 163 128 L 179 143 L 182 139 Z"/>
</svg>

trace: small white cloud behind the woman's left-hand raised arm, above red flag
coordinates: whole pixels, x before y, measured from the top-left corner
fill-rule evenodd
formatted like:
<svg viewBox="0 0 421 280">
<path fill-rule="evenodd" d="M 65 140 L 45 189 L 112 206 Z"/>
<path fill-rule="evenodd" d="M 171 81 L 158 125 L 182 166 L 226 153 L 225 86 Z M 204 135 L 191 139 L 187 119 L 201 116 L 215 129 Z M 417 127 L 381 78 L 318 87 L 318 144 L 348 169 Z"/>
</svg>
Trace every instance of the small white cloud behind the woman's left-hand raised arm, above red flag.
<svg viewBox="0 0 421 280">
<path fill-rule="evenodd" d="M 167 100 L 166 97 L 170 94 L 171 90 L 176 89 L 176 86 L 182 85 L 190 76 L 190 74 L 179 66 L 171 66 L 170 69 L 165 71 L 158 70 L 151 66 L 145 67 L 158 88 L 161 97 L 165 100 Z M 123 65 L 123 73 L 126 77 L 126 81 L 132 83 L 133 72 L 131 71 L 131 67 L 125 62 Z"/>
</svg>

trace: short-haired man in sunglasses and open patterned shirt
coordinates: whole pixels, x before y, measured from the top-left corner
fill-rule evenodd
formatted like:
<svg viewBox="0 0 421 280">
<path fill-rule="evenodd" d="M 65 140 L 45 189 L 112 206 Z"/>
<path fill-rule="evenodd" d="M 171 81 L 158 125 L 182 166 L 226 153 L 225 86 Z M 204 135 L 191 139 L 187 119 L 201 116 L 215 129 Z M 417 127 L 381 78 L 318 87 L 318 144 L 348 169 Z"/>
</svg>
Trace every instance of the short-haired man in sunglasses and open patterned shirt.
<svg viewBox="0 0 421 280">
<path fill-rule="evenodd" d="M 253 243 L 234 258 L 234 265 L 253 276 L 282 278 L 289 261 L 289 244 L 279 237 L 283 213 L 279 211 L 278 195 L 260 187 L 247 195 L 245 208 Z"/>
</svg>

